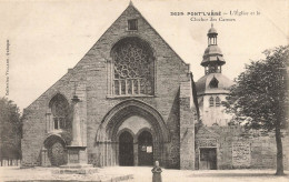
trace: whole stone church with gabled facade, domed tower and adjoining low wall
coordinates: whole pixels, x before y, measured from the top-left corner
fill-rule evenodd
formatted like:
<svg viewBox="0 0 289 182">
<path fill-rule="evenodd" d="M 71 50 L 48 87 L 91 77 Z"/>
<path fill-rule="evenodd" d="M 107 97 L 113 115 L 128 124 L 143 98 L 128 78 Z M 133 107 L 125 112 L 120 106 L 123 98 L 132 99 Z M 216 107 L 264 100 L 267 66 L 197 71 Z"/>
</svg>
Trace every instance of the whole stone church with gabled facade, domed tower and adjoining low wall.
<svg viewBox="0 0 289 182">
<path fill-rule="evenodd" d="M 189 64 L 130 3 L 76 67 L 24 109 L 22 165 L 273 168 L 272 135 L 228 127 L 221 102 L 232 81 L 221 73 L 217 30 L 207 36 L 205 75 L 195 83 Z"/>
</svg>

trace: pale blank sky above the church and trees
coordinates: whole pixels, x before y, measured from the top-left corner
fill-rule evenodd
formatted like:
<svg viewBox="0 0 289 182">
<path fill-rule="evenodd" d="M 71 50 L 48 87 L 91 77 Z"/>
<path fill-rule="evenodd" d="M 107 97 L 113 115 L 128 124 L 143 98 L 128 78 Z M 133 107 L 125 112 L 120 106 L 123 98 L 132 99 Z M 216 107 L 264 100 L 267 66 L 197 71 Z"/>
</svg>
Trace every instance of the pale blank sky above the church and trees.
<svg viewBox="0 0 289 182">
<path fill-rule="evenodd" d="M 132 3 L 190 64 L 195 81 L 205 74 L 200 62 L 212 21 L 191 21 L 193 16 L 187 12 L 221 12 L 212 17 L 217 19 L 213 27 L 226 60 L 222 73 L 231 80 L 246 63 L 263 59 L 262 51 L 288 44 L 289 40 L 289 0 Z M 128 6 L 129 0 L 0 0 L 0 97 L 14 101 L 20 110 L 28 107 L 81 60 Z"/>
</svg>

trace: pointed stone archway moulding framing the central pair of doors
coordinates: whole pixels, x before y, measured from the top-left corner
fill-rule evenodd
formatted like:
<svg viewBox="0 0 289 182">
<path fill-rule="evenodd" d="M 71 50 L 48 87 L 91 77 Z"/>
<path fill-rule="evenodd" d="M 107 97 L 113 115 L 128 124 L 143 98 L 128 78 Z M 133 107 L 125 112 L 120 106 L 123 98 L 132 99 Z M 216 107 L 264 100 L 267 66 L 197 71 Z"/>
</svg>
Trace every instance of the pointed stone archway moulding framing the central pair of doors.
<svg viewBox="0 0 289 182">
<path fill-rule="evenodd" d="M 102 133 L 103 136 L 97 136 L 104 138 L 106 141 L 109 141 L 104 143 L 109 146 L 109 151 L 102 150 L 103 152 L 107 152 L 111 155 L 111 158 L 114 159 L 106 159 L 102 158 L 101 160 L 111 160 L 116 161 L 116 164 L 119 164 L 119 128 L 126 121 L 128 118 L 139 115 L 143 119 L 146 119 L 149 124 L 151 125 L 151 135 L 153 140 L 151 140 L 151 143 L 153 143 L 152 148 L 152 161 L 160 161 L 161 165 L 166 165 L 166 148 L 167 143 L 169 141 L 169 132 L 167 129 L 167 125 L 160 115 L 160 113 L 152 107 L 148 105 L 144 102 L 138 101 L 138 100 L 127 100 L 119 104 L 117 104 L 114 108 L 112 108 L 108 114 L 104 117 L 102 124 L 100 127 L 100 130 L 98 133 Z M 138 134 L 139 135 L 139 134 Z M 134 139 L 134 141 L 137 141 Z M 99 142 L 103 143 L 103 142 Z M 106 148 L 107 146 L 100 146 Z M 134 144 L 133 148 L 134 155 L 136 151 L 138 151 L 138 145 Z M 106 165 L 107 161 L 103 161 L 102 163 Z M 134 165 L 138 164 L 138 159 L 136 160 L 134 156 Z M 109 165 L 109 164 L 108 164 Z"/>
</svg>

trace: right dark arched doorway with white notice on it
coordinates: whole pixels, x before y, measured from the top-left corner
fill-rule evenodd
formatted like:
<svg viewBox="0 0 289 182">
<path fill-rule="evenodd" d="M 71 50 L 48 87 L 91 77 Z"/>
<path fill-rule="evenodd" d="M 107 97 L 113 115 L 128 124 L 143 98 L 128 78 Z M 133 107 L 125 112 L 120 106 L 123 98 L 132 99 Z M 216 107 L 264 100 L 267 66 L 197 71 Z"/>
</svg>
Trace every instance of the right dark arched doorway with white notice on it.
<svg viewBox="0 0 289 182">
<path fill-rule="evenodd" d="M 153 165 L 152 135 L 148 131 L 142 131 L 138 136 L 138 159 L 139 165 Z"/>
</svg>

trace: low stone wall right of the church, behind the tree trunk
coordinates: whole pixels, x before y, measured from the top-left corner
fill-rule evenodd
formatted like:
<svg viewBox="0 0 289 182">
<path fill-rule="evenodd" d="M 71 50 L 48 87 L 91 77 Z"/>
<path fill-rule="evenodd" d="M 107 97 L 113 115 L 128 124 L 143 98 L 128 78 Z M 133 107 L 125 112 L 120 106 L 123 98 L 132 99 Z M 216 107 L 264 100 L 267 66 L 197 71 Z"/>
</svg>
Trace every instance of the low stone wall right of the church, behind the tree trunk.
<svg viewBox="0 0 289 182">
<path fill-rule="evenodd" d="M 283 164 L 288 169 L 288 135 L 282 138 Z M 207 141 L 207 142 L 206 142 Z M 273 132 L 241 127 L 201 127 L 196 134 L 196 168 L 199 148 L 217 148 L 218 169 L 275 169 L 276 142 Z"/>
</svg>

